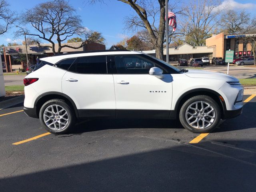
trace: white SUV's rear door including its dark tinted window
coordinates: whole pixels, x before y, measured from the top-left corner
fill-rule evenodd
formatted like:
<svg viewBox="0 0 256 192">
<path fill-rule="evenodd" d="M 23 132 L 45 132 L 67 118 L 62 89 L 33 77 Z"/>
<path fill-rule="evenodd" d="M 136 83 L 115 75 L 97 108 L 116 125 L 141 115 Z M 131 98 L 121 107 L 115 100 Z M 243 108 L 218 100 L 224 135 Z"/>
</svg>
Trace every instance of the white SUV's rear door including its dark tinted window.
<svg viewBox="0 0 256 192">
<path fill-rule="evenodd" d="M 112 74 L 107 74 L 106 56 L 76 58 L 62 77 L 62 92 L 76 104 L 80 117 L 116 116 Z"/>
</svg>

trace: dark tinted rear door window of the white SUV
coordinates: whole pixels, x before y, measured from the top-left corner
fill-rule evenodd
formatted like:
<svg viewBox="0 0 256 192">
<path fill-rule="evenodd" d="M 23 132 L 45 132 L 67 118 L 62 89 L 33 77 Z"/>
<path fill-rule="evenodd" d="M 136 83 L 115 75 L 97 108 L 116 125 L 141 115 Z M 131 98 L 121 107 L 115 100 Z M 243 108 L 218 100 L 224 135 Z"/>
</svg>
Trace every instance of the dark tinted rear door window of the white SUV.
<svg viewBox="0 0 256 192">
<path fill-rule="evenodd" d="M 69 71 L 82 74 L 107 74 L 106 56 L 77 58 Z"/>
</svg>

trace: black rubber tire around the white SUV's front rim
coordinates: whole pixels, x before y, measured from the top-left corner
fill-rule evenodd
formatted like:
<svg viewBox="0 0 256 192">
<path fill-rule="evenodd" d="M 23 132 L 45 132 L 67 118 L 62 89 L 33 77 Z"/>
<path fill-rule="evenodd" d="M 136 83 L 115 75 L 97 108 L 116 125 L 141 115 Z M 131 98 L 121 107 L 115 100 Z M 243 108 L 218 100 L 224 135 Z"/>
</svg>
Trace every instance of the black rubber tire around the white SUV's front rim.
<svg viewBox="0 0 256 192">
<path fill-rule="evenodd" d="M 198 101 L 203 101 L 203 102 L 207 102 L 208 104 L 210 104 L 216 113 L 216 117 L 215 120 L 213 121 L 213 123 L 208 126 L 207 128 L 203 128 L 203 129 L 198 129 L 198 128 L 194 128 L 192 126 L 190 126 L 186 120 L 186 110 L 187 108 L 193 104 L 194 102 L 198 102 Z M 180 122 L 181 124 L 184 126 L 184 128 L 186 128 L 187 130 L 193 132 L 193 133 L 209 133 L 212 130 L 214 130 L 216 128 L 216 126 L 218 125 L 218 123 L 220 122 L 220 118 L 221 118 L 221 111 L 220 111 L 220 107 L 218 106 L 218 104 L 209 96 L 206 95 L 198 95 L 198 96 L 194 96 L 190 99 L 188 99 L 180 108 L 180 114 L 179 114 L 179 118 L 180 118 Z M 198 117 L 195 117 L 195 119 Z M 192 118 L 193 119 L 193 118 Z M 193 121 L 193 120 L 192 120 Z"/>
</svg>

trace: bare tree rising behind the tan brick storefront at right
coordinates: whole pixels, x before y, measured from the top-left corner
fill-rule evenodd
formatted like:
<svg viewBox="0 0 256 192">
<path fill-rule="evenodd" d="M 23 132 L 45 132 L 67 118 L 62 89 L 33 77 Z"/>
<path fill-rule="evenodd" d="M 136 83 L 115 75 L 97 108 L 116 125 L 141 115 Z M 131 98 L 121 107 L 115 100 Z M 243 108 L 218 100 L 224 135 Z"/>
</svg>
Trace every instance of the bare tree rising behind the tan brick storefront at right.
<svg viewBox="0 0 256 192">
<path fill-rule="evenodd" d="M 242 33 L 245 28 L 250 24 L 250 14 L 246 13 L 245 10 L 227 10 L 221 15 L 218 27 L 221 29 L 220 32 L 225 34 L 238 34 Z"/>
</svg>

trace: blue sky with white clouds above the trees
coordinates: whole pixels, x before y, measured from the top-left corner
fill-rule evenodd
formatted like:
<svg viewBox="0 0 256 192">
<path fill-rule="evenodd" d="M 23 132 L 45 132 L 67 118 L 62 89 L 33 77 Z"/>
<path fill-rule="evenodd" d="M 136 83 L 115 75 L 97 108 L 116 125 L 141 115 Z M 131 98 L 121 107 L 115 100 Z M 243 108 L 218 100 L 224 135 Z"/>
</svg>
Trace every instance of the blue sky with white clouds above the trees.
<svg viewBox="0 0 256 192">
<path fill-rule="evenodd" d="M 18 13 L 23 10 L 32 8 L 40 2 L 47 0 L 9 0 L 10 8 L 16 10 Z M 134 10 L 127 4 L 117 0 L 106 0 L 106 4 L 95 4 L 88 6 L 84 4 L 84 0 L 70 0 L 70 4 L 76 9 L 77 14 L 81 16 L 83 25 L 90 30 L 102 32 L 106 38 L 106 47 L 109 48 L 112 44 L 116 44 L 124 37 L 132 36 L 134 33 L 124 31 L 124 17 L 135 14 Z M 255 14 L 256 0 L 224 0 L 222 2 L 223 8 L 229 7 L 234 10 L 248 10 Z M 13 33 L 16 28 L 11 28 L 4 35 L 0 36 L 0 44 L 7 44 L 8 42 L 21 43 L 24 39 L 13 39 Z"/>
</svg>

